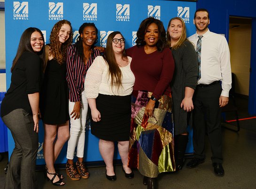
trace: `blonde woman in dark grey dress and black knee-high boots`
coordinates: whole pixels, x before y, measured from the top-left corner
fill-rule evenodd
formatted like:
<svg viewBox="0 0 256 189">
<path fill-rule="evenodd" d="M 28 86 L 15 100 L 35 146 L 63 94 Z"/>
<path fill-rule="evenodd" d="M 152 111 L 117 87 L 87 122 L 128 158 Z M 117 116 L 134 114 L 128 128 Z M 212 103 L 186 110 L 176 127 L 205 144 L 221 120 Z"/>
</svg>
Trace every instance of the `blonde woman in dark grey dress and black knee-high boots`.
<svg viewBox="0 0 256 189">
<path fill-rule="evenodd" d="M 175 71 L 171 81 L 174 123 L 174 157 L 176 169 L 184 166 L 184 155 L 188 141 L 187 124 L 194 109 L 192 97 L 196 87 L 197 55 L 194 45 L 186 38 L 186 26 L 179 17 L 169 21 L 167 45 L 175 62 Z"/>
</svg>

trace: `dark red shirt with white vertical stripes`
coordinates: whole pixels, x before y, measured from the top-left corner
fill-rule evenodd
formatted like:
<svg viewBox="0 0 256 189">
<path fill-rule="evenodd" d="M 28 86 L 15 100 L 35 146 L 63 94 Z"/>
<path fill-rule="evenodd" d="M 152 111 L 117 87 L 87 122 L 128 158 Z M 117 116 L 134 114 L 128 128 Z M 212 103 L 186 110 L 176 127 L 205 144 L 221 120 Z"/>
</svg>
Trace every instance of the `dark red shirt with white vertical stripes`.
<svg viewBox="0 0 256 189">
<path fill-rule="evenodd" d="M 85 75 L 93 60 L 100 55 L 98 49 L 93 50 L 87 64 L 78 56 L 75 45 L 67 50 L 67 82 L 69 85 L 70 102 L 81 101 L 81 91 L 84 90 Z"/>
</svg>

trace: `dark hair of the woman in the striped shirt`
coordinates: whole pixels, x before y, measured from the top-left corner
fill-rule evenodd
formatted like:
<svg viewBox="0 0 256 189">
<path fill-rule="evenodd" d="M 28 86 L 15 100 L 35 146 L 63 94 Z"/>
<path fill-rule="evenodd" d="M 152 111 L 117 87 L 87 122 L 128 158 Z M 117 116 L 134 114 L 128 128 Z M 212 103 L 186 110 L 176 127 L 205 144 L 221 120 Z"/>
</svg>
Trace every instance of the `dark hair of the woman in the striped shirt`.
<svg viewBox="0 0 256 189">
<path fill-rule="evenodd" d="M 78 30 L 78 33 L 79 33 L 80 35 L 78 36 L 77 42 L 75 43 L 75 46 L 76 46 L 76 48 L 77 48 L 77 54 L 78 54 L 78 56 L 79 56 L 82 60 L 85 59 L 85 54 L 84 54 L 83 40 L 82 40 L 82 38 L 81 38 L 81 34 L 83 33 L 85 27 L 87 27 L 87 26 L 93 26 L 93 27 L 95 28 L 96 36 L 97 36 L 95 42 L 94 42 L 93 45 L 91 46 L 91 49 L 94 49 L 94 45 L 98 42 L 98 29 L 97 29 L 97 27 L 95 26 L 95 24 L 94 24 L 94 23 L 83 23 L 83 24 L 80 26 L 79 30 Z M 91 55 L 92 57 L 93 57 L 93 53 L 94 53 L 94 52 L 92 51 L 92 55 Z"/>
</svg>

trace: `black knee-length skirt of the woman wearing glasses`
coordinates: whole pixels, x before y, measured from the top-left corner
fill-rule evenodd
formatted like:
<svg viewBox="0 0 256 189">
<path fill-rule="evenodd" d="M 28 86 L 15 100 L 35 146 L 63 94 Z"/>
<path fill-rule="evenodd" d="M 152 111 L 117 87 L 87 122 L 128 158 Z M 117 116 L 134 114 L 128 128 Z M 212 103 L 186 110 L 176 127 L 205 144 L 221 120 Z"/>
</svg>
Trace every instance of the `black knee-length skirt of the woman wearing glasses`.
<svg viewBox="0 0 256 189">
<path fill-rule="evenodd" d="M 131 125 L 131 95 L 112 96 L 99 94 L 96 106 L 101 121 L 91 119 L 91 132 L 102 140 L 128 141 Z"/>
</svg>

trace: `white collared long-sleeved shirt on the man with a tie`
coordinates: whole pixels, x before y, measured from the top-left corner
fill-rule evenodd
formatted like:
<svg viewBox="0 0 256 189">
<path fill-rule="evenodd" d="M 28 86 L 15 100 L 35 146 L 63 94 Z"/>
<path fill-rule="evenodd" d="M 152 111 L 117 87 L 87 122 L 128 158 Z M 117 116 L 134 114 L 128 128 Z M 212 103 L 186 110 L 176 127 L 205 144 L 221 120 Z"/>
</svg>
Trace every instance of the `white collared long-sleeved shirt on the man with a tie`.
<svg viewBox="0 0 256 189">
<path fill-rule="evenodd" d="M 221 96 L 228 97 L 231 89 L 232 76 L 230 53 L 226 38 L 208 30 L 202 35 L 201 79 L 197 84 L 209 84 L 221 81 Z M 198 34 L 188 38 L 196 49 Z"/>
</svg>

